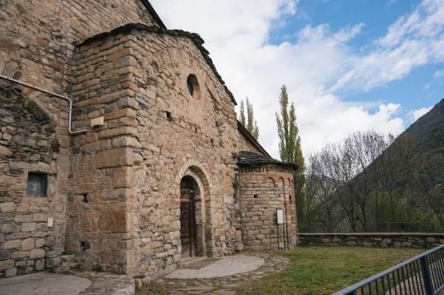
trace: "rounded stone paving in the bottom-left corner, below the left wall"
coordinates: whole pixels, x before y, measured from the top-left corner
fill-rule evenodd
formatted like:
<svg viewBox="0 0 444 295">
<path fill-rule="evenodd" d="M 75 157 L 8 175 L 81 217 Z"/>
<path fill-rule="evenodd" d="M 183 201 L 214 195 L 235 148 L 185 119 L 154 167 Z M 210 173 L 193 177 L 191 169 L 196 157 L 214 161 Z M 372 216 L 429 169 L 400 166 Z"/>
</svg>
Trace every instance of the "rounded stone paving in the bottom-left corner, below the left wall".
<svg viewBox="0 0 444 295">
<path fill-rule="evenodd" d="M 132 295 L 134 280 L 106 272 L 38 272 L 0 280 L 1 295 Z"/>
</svg>

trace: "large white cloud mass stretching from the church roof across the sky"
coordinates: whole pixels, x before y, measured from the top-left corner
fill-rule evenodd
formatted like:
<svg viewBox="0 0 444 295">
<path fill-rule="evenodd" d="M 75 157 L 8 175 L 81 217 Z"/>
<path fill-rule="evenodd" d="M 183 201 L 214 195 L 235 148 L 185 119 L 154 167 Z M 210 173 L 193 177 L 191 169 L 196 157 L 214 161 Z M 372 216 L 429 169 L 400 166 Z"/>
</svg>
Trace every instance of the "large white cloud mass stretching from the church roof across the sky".
<svg viewBox="0 0 444 295">
<path fill-rule="evenodd" d="M 268 43 L 272 21 L 297 13 L 292 0 L 152 0 L 168 28 L 198 32 L 237 100 L 248 96 L 259 124 L 259 141 L 277 157 L 274 113 L 282 84 L 296 105 L 304 153 L 356 130 L 401 133 L 400 105 L 343 102 L 338 91 L 365 90 L 402 78 L 414 67 L 444 61 L 441 0 L 425 0 L 390 26 L 386 36 L 353 52 L 347 42 L 365 30 L 362 23 L 332 32 L 307 25 L 294 43 Z M 443 46 L 440 45 L 443 43 Z M 333 85 L 333 87 L 332 87 Z"/>
</svg>

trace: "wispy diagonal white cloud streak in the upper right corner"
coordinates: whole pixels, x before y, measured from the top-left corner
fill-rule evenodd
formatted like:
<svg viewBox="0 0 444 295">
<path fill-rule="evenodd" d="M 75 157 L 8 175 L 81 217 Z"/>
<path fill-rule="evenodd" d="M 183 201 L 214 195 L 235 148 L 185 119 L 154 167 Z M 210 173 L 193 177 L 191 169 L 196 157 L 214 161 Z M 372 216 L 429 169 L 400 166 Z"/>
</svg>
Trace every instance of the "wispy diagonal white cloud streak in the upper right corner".
<svg viewBox="0 0 444 295">
<path fill-rule="evenodd" d="M 444 1 L 424 0 L 369 45 L 367 54 L 339 78 L 332 91 L 344 87 L 368 90 L 404 78 L 415 67 L 443 62 Z"/>
</svg>

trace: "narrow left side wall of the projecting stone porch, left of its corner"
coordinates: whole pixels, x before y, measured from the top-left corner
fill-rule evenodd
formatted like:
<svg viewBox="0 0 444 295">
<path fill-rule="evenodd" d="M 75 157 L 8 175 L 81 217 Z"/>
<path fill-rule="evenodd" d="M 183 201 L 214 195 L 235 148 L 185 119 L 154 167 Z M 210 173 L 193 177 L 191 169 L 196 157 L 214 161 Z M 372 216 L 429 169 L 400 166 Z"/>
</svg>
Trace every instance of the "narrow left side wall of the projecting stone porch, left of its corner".
<svg viewBox="0 0 444 295">
<path fill-rule="evenodd" d="M 134 168 L 141 162 L 137 139 L 133 41 L 110 36 L 81 45 L 68 87 L 76 108 L 73 124 L 102 127 L 71 140 L 66 249 L 83 268 L 136 274 L 138 250 L 132 228 Z"/>
</svg>

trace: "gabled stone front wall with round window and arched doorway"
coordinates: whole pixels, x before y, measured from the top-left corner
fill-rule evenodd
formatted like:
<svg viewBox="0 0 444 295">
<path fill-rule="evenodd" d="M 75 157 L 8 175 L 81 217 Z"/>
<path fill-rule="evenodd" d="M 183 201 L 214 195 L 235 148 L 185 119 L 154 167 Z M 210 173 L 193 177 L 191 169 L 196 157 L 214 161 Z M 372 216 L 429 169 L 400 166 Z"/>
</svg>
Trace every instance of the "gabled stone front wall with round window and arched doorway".
<svg viewBox="0 0 444 295">
<path fill-rule="evenodd" d="M 179 184 L 185 175 L 201 183 L 198 242 L 206 243 L 208 256 L 232 251 L 226 241 L 235 234 L 229 208 L 234 203 L 236 113 L 192 40 L 144 30 L 132 34 L 137 133 L 143 146 L 143 162 L 135 168 L 139 206 L 134 224 L 139 228 L 134 231 L 139 233 L 141 272 L 155 275 L 174 270 L 181 260 Z M 199 83 L 196 97 L 188 93 L 189 74 Z"/>
</svg>

